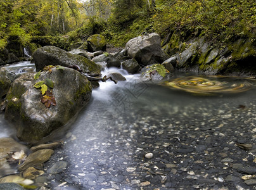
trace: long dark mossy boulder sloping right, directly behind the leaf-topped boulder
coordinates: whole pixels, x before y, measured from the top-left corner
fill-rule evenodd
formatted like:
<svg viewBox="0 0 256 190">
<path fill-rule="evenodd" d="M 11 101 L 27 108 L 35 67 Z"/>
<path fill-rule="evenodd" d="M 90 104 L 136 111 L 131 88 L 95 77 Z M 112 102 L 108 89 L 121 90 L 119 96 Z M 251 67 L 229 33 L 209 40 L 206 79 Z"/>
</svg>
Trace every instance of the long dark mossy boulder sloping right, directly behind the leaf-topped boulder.
<svg viewBox="0 0 256 190">
<path fill-rule="evenodd" d="M 84 73 L 100 73 L 100 66 L 79 54 L 67 53 L 67 51 L 55 46 L 44 46 L 36 49 L 32 54 L 37 71 L 47 65 L 72 66 L 77 65 Z"/>
</svg>

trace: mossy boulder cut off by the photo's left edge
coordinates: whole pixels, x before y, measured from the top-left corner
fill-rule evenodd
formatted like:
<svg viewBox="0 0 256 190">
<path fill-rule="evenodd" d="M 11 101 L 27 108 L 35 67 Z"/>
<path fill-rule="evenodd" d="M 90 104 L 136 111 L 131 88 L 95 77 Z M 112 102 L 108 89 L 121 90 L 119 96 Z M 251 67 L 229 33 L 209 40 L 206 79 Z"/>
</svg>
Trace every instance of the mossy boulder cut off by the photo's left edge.
<svg viewBox="0 0 256 190">
<path fill-rule="evenodd" d="M 0 68 L 0 103 L 10 89 L 11 83 L 15 79 L 15 73 L 10 72 L 6 67 Z"/>
</svg>

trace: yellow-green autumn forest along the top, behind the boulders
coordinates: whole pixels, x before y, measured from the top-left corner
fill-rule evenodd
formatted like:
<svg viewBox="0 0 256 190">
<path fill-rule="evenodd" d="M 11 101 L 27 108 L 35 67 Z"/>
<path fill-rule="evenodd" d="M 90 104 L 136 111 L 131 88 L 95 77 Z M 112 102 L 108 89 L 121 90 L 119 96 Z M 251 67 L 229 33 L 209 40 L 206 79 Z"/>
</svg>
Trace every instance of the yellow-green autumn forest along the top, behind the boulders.
<svg viewBox="0 0 256 190">
<path fill-rule="evenodd" d="M 255 0 L 0 0 L 0 50 L 12 41 L 32 51 L 44 44 L 70 50 L 93 34 L 124 46 L 145 32 L 255 45 L 255 29 Z"/>
</svg>

